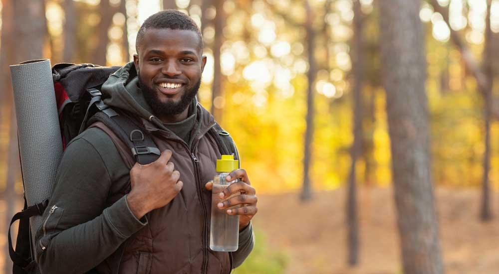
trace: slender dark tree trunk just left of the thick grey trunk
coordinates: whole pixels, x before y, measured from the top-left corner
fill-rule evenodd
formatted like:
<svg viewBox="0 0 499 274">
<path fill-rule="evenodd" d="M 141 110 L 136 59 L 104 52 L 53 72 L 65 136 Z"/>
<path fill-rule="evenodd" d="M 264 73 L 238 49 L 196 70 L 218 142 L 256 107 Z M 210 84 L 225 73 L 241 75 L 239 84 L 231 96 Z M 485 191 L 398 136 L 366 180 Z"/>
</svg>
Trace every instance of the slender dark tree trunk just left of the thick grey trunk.
<svg viewBox="0 0 499 274">
<path fill-rule="evenodd" d="M 348 264 L 359 262 L 359 226 L 357 213 L 356 163 L 362 154 L 362 87 L 364 70 L 364 42 L 362 39 L 362 10 L 359 0 L 353 2 L 353 144 L 350 148 L 350 174 L 346 199 L 346 220 L 348 227 Z"/>
</svg>

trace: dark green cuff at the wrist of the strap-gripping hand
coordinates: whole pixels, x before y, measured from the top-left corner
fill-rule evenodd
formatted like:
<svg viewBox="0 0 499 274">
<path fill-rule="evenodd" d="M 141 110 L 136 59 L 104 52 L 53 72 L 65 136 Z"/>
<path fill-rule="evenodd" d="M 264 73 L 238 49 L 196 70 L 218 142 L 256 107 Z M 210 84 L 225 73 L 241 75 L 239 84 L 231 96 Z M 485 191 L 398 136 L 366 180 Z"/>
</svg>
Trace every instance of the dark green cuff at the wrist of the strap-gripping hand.
<svg viewBox="0 0 499 274">
<path fill-rule="evenodd" d="M 113 230 L 123 238 L 129 238 L 132 234 L 147 225 L 146 216 L 139 220 L 133 215 L 128 207 L 126 195 L 110 207 L 104 209 L 103 215 Z"/>
</svg>

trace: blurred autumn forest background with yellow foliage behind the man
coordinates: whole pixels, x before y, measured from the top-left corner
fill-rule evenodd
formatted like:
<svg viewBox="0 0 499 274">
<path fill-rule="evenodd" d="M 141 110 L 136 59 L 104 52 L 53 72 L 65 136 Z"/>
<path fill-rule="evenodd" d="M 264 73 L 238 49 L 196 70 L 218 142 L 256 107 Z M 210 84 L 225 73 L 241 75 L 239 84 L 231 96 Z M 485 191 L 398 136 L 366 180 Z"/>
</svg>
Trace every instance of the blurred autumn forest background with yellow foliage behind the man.
<svg viewBox="0 0 499 274">
<path fill-rule="evenodd" d="M 123 65 L 141 23 L 166 8 L 200 26 L 199 99 L 261 197 L 261 241 L 237 274 L 499 267 L 499 0 L 1 0 L 0 223 L 22 195 L 8 65 Z M 456 227 L 480 220 L 466 233 L 488 241 L 462 240 Z"/>
</svg>

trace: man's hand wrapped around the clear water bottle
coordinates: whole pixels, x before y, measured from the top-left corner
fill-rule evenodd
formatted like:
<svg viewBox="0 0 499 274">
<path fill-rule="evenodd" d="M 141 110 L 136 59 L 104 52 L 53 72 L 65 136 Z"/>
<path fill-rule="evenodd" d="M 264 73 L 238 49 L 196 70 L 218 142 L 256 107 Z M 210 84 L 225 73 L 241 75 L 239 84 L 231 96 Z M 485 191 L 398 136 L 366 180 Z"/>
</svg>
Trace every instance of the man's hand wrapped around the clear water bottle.
<svg viewBox="0 0 499 274">
<path fill-rule="evenodd" d="M 241 195 L 237 195 L 227 200 L 223 200 L 217 206 L 220 209 L 225 209 L 233 207 L 235 205 L 241 205 L 238 208 L 231 208 L 227 210 L 229 215 L 239 215 L 239 231 L 243 230 L 250 224 L 251 218 L 256 214 L 258 209 L 256 208 L 256 202 L 258 199 L 255 195 L 255 189 L 251 186 L 248 174 L 244 169 L 236 169 L 232 171 L 227 177 L 228 182 L 239 179 L 238 182 L 230 184 L 223 192 L 219 194 L 219 197 L 223 200 L 226 197 L 230 197 L 232 194 L 237 192 Z M 205 185 L 206 189 L 213 189 L 213 182 L 210 181 Z"/>
</svg>

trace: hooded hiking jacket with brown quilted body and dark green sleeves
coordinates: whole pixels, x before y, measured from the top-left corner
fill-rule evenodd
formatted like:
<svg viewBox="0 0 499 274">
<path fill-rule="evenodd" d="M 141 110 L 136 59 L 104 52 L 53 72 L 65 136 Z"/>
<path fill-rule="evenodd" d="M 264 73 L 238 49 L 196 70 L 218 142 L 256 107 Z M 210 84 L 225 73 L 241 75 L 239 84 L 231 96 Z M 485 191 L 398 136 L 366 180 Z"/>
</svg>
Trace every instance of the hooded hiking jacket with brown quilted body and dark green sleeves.
<svg viewBox="0 0 499 274">
<path fill-rule="evenodd" d="M 93 124 L 69 143 L 59 165 L 35 237 L 42 274 L 222 274 L 241 265 L 254 244 L 251 224 L 239 234 L 238 251 L 209 249 L 211 191 L 204 185 L 221 157 L 208 133 L 213 116 L 194 104 L 189 143 L 177 137 L 145 103 L 133 62 L 109 77 L 102 94 L 104 103 L 136 119 L 161 151 L 173 151 L 170 161 L 184 186 L 169 204 L 137 219 L 126 201 L 130 149 L 103 124 Z"/>
</svg>

